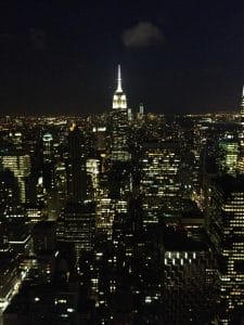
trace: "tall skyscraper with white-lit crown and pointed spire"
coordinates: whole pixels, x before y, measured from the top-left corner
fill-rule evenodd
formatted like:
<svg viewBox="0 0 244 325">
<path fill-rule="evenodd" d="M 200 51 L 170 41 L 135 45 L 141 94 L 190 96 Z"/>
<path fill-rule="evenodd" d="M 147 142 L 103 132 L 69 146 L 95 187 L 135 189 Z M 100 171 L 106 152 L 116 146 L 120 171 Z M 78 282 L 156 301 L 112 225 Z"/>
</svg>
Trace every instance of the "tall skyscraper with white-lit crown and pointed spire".
<svg viewBox="0 0 244 325">
<path fill-rule="evenodd" d="M 128 151 L 128 109 L 126 94 L 121 89 L 120 65 L 118 65 L 117 89 L 113 96 L 113 110 L 111 117 L 111 160 L 128 161 L 131 158 Z"/>
</svg>

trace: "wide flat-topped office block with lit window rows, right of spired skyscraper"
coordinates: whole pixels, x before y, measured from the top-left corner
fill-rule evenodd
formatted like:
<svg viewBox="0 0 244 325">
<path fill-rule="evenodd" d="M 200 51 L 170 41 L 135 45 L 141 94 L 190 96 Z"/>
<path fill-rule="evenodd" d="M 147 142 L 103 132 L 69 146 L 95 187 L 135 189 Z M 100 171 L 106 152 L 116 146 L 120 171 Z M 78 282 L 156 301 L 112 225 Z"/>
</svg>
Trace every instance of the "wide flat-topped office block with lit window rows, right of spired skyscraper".
<svg viewBox="0 0 244 325">
<path fill-rule="evenodd" d="M 158 223 L 179 212 L 179 147 L 176 143 L 144 143 L 141 159 L 143 224 Z"/>
</svg>

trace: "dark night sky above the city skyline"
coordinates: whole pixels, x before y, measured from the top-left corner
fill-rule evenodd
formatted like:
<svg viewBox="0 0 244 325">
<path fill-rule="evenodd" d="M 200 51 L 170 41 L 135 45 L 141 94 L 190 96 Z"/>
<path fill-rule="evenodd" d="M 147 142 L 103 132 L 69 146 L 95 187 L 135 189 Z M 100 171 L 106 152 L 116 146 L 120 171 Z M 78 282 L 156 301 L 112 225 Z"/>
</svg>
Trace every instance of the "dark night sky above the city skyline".
<svg viewBox="0 0 244 325">
<path fill-rule="evenodd" d="M 0 0 L 1 114 L 236 109 L 244 1 Z"/>
</svg>

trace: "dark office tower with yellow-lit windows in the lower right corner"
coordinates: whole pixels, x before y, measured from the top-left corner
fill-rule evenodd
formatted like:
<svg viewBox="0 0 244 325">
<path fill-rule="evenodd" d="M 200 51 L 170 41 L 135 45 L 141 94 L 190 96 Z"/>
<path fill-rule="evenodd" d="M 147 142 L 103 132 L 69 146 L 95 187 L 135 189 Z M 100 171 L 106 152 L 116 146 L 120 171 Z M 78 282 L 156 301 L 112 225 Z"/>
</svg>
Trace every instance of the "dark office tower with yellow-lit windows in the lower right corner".
<svg viewBox="0 0 244 325">
<path fill-rule="evenodd" d="M 229 324 L 244 304 L 244 178 L 211 180 L 205 195 L 207 229 L 219 257 L 220 318 Z"/>
</svg>

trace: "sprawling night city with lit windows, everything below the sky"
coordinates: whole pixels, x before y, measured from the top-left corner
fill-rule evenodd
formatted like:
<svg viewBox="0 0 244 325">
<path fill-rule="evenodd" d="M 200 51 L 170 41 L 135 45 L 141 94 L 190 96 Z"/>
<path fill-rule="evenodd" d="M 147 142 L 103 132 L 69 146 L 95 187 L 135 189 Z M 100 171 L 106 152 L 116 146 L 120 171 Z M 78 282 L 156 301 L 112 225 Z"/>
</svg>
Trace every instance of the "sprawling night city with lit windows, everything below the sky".
<svg viewBox="0 0 244 325">
<path fill-rule="evenodd" d="M 104 114 L 0 118 L 1 325 L 244 318 L 243 101 L 131 114 L 123 76 Z"/>
</svg>

